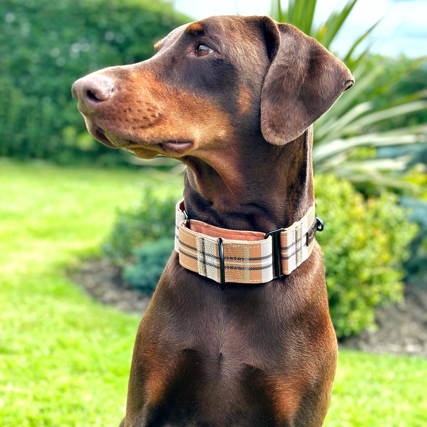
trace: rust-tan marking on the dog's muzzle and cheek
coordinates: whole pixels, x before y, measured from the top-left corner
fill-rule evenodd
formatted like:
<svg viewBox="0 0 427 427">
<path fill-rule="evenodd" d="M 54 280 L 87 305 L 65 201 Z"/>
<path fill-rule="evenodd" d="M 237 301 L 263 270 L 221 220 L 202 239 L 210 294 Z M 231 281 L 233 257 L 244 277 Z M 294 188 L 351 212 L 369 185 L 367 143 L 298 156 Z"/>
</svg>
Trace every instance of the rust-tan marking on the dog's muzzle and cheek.
<svg viewBox="0 0 427 427">
<path fill-rule="evenodd" d="M 208 99 L 168 88 L 151 72 L 131 70 L 119 87 L 111 111 L 105 112 L 99 124 L 107 132 L 141 141 L 138 148 L 177 140 L 193 141 L 192 152 L 218 149 L 234 132 L 227 115 Z M 125 148 L 134 151 L 137 147 Z M 141 153 L 135 150 L 135 154 Z"/>
</svg>

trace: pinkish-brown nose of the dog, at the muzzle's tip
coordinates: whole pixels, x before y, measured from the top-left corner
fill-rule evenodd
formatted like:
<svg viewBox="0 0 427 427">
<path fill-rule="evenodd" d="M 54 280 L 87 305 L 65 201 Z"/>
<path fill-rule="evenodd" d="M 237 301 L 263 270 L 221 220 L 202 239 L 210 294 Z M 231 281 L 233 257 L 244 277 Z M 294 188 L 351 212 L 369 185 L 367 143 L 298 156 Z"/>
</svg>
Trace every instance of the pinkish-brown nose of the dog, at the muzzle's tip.
<svg viewBox="0 0 427 427">
<path fill-rule="evenodd" d="M 73 98 L 82 101 L 89 112 L 111 97 L 114 92 L 113 81 L 102 74 L 92 74 L 74 82 L 71 87 Z"/>
</svg>

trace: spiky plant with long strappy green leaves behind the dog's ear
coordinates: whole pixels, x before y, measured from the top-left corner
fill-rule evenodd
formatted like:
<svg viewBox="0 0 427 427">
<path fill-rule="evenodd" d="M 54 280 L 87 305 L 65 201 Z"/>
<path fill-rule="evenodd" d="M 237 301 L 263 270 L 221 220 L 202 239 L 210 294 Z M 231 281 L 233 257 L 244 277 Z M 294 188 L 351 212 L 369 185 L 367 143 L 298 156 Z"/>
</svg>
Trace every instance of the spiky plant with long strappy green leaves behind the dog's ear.
<svg viewBox="0 0 427 427">
<path fill-rule="evenodd" d="M 357 0 L 348 1 L 341 10 L 332 12 L 319 26 L 315 26 L 313 21 L 316 3 L 317 0 L 289 0 L 288 8 L 284 10 L 280 0 L 272 0 L 271 16 L 279 22 L 295 25 L 330 49 Z M 358 55 L 355 53 L 378 22 L 366 29 L 349 46 L 347 53 L 340 57 L 354 74 L 356 84 L 314 124 L 313 167 L 317 172 L 332 171 L 354 183 L 408 188 L 408 182 L 399 179 L 399 173 L 406 171 L 414 163 L 418 150 L 414 150 L 412 155 L 376 158 L 375 148 L 417 144 L 420 150 L 423 146 L 425 149 L 425 123 L 389 130 L 384 130 L 381 125 L 387 120 L 396 119 L 406 123 L 407 120 L 402 118 L 426 109 L 427 91 L 402 98 L 391 96 L 387 108 L 379 108 L 374 102 L 381 89 L 386 91 L 395 80 L 418 67 L 421 62 L 409 61 L 407 67 L 395 73 L 394 79 L 381 83 L 383 88 L 369 92 L 370 86 L 377 82 L 386 65 L 373 60 L 368 49 Z M 374 149 L 369 152 L 366 147 Z M 414 189 L 413 186 L 411 188 Z"/>
</svg>

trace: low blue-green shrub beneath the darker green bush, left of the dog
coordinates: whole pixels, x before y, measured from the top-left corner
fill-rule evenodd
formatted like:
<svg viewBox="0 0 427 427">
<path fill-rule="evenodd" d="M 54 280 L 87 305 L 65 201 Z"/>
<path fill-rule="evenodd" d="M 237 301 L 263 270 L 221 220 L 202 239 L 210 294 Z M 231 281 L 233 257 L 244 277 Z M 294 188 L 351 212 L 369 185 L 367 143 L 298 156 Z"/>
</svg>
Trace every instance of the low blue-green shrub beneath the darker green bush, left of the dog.
<svg viewBox="0 0 427 427">
<path fill-rule="evenodd" d="M 142 248 L 136 249 L 135 263 L 123 268 L 123 279 L 141 292 L 152 294 L 172 250 L 173 239 L 170 238 L 149 242 Z"/>
</svg>

